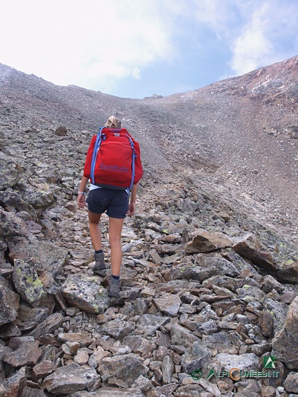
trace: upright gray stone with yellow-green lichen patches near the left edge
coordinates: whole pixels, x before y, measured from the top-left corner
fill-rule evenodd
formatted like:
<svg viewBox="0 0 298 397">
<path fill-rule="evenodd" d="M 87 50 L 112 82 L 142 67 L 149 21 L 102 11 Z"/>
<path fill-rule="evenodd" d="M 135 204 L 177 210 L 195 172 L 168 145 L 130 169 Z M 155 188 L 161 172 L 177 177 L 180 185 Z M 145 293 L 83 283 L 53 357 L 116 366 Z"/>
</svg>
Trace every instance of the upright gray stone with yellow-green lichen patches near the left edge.
<svg viewBox="0 0 298 397">
<path fill-rule="evenodd" d="M 37 272 L 21 259 L 14 260 L 12 281 L 23 301 L 32 306 L 37 306 L 41 298 L 46 295 Z"/>
</svg>

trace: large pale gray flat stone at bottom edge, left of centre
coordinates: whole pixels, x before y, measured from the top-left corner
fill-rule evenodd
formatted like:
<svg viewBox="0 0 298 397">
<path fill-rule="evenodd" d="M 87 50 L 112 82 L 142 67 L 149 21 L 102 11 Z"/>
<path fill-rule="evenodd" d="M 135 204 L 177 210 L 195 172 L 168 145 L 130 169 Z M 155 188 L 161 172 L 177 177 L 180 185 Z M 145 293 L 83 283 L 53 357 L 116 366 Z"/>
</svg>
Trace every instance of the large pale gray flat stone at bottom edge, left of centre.
<svg viewBox="0 0 298 397">
<path fill-rule="evenodd" d="M 52 394 L 70 394 L 88 389 L 98 378 L 99 376 L 94 368 L 84 368 L 72 363 L 65 367 L 59 367 L 44 378 L 41 387 Z"/>
</svg>

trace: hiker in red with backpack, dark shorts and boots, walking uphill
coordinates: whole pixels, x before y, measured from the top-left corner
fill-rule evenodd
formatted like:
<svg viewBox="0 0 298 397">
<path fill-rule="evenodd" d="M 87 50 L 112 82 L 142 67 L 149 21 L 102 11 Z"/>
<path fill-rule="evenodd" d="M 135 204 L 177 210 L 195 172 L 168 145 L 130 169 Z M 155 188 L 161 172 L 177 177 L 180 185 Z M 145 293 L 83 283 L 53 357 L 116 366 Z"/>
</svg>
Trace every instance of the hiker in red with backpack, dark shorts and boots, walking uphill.
<svg viewBox="0 0 298 397">
<path fill-rule="evenodd" d="M 132 216 L 135 212 L 137 183 L 142 175 L 139 143 L 132 139 L 125 128 L 121 128 L 121 121 L 110 116 L 105 127 L 92 137 L 77 196 L 80 208 L 86 207 L 86 202 L 88 205 L 90 237 L 95 250 L 93 272 L 100 276 L 106 274 L 106 263 L 99 221 L 103 212 L 109 217 L 112 267 L 110 297 L 119 297 L 121 231 L 126 215 Z M 85 189 L 89 179 L 89 194 L 85 201 Z"/>
</svg>

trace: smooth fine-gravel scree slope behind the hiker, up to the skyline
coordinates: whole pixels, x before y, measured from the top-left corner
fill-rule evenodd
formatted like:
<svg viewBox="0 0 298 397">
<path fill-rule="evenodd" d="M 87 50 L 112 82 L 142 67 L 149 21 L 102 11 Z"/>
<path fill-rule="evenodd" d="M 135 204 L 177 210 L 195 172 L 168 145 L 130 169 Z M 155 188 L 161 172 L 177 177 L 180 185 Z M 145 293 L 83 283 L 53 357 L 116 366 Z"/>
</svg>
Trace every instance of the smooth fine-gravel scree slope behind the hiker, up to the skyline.
<svg viewBox="0 0 298 397">
<path fill-rule="evenodd" d="M 117 114 L 143 147 L 146 169 L 221 176 L 270 213 L 297 241 L 298 57 L 205 88 L 152 99 L 122 99 L 59 87 L 1 65 L 3 119 L 28 128 L 96 133 Z M 26 112 L 23 114 L 23 112 Z"/>
</svg>

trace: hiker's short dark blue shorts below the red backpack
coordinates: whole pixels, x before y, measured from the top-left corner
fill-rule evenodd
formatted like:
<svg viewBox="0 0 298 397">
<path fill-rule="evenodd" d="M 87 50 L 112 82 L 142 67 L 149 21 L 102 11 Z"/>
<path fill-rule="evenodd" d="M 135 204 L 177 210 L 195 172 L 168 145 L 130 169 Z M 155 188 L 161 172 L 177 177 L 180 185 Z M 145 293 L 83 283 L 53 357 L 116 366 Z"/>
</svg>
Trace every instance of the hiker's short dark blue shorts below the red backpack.
<svg viewBox="0 0 298 397">
<path fill-rule="evenodd" d="M 125 190 L 112 190 L 101 187 L 90 190 L 88 210 L 94 214 L 106 212 L 111 218 L 125 218 L 128 212 L 129 197 Z"/>
</svg>

